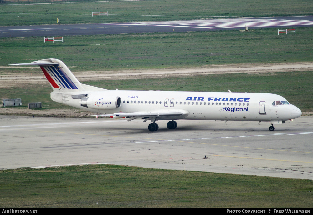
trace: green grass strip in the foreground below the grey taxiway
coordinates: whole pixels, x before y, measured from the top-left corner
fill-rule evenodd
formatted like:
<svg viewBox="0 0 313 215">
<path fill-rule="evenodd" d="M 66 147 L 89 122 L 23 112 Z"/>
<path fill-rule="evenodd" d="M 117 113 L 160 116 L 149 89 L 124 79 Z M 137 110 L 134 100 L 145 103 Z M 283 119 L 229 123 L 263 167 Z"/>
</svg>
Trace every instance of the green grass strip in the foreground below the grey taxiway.
<svg viewBox="0 0 313 215">
<path fill-rule="evenodd" d="M 311 180 L 111 165 L 0 171 L 0 207 L 311 208 Z"/>
</svg>

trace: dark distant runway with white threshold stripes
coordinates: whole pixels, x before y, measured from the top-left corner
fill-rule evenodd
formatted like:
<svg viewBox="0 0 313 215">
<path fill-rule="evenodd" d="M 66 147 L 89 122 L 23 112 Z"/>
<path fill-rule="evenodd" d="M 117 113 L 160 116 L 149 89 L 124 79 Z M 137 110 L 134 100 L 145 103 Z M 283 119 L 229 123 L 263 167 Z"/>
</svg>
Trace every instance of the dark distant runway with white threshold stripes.
<svg viewBox="0 0 313 215">
<path fill-rule="evenodd" d="M 258 28 L 312 27 L 313 16 L 201 19 L 188 21 L 129 22 L 0 26 L 0 37 L 56 37 L 121 33 L 244 30 Z M 277 30 L 275 30 L 277 32 Z M 44 38 L 43 38 L 44 39 Z"/>
</svg>

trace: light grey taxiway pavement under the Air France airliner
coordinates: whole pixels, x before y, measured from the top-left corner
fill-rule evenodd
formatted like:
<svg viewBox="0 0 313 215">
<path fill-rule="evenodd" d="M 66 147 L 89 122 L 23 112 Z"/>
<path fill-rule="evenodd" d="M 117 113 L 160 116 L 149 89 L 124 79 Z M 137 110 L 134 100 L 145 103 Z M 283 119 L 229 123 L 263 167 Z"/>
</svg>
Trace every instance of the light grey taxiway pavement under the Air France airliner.
<svg viewBox="0 0 313 215">
<path fill-rule="evenodd" d="M 85 163 L 313 179 L 313 116 L 285 124 L 0 116 L 0 169 Z M 205 158 L 205 156 L 207 158 Z"/>
</svg>

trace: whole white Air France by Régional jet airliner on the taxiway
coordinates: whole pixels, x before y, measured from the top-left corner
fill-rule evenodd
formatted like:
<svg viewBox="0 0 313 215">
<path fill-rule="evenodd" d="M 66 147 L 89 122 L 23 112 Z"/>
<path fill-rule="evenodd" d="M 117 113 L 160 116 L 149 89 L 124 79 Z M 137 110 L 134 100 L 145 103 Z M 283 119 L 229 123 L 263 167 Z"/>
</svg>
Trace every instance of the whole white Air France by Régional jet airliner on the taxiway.
<svg viewBox="0 0 313 215">
<path fill-rule="evenodd" d="M 80 83 L 60 60 L 49 58 L 32 63 L 38 65 L 48 79 L 55 102 L 99 113 L 111 118 L 151 121 L 149 131 L 157 131 L 157 120 L 168 120 L 167 128 L 175 129 L 178 119 L 234 120 L 285 123 L 301 116 L 296 106 L 279 95 L 270 93 L 175 92 L 107 90 Z"/>
</svg>

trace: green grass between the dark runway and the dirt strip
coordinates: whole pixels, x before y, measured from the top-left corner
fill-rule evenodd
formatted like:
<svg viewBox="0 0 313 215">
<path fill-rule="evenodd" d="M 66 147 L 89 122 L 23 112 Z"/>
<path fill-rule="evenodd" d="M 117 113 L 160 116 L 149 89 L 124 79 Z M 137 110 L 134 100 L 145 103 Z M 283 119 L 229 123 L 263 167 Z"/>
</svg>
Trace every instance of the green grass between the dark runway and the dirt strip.
<svg viewBox="0 0 313 215">
<path fill-rule="evenodd" d="M 305 62 L 313 59 L 313 28 L 277 35 L 276 29 L 0 38 L 0 65 L 57 58 L 72 71 L 186 68 L 212 64 Z M 21 71 L 1 69 L 2 72 Z"/>
</svg>

